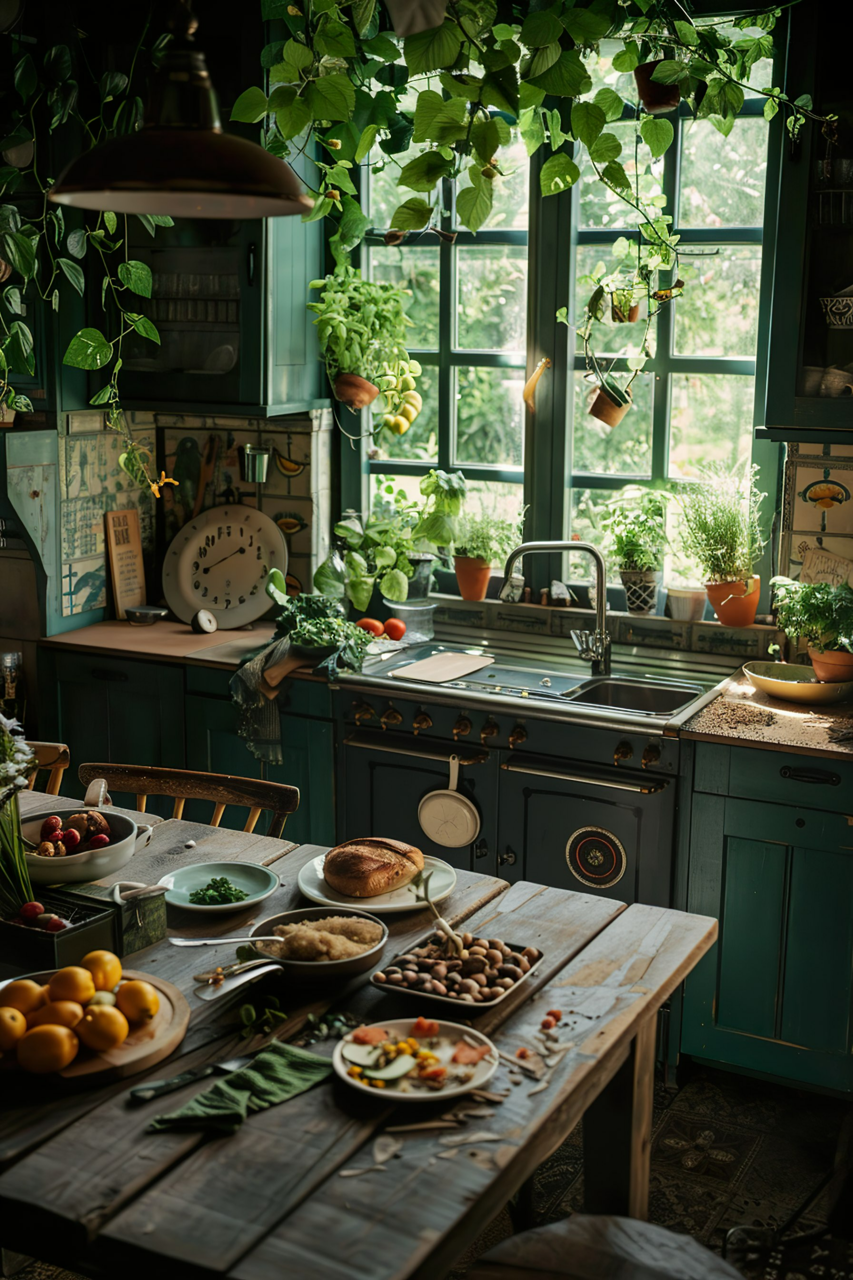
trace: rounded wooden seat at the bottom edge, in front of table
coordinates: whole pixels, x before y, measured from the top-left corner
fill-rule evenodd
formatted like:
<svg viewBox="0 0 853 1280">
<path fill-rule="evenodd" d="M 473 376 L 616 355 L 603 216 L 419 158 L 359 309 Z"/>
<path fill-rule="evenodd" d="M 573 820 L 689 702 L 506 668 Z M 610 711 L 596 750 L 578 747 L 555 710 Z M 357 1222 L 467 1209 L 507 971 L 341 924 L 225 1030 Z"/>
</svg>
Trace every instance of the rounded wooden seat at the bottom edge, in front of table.
<svg viewBox="0 0 853 1280">
<path fill-rule="evenodd" d="M 689 1235 L 634 1217 L 573 1213 L 510 1235 L 478 1258 L 467 1280 L 742 1280 Z"/>
</svg>

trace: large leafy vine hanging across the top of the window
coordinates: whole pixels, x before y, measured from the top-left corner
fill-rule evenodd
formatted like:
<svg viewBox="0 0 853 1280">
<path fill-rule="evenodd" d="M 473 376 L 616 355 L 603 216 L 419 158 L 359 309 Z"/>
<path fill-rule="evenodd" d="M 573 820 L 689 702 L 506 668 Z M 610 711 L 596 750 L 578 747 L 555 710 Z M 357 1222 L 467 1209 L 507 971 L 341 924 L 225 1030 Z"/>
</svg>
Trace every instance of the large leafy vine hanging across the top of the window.
<svg viewBox="0 0 853 1280">
<path fill-rule="evenodd" d="M 402 12 L 395 0 L 389 8 Z M 749 83 L 756 64 L 774 56 L 776 6 L 700 19 L 679 0 L 555 0 L 533 12 L 501 0 L 449 0 L 439 26 L 404 38 L 379 0 L 262 0 L 261 9 L 265 18 L 284 19 L 289 38 L 265 47 L 269 91 L 246 90 L 231 119 L 260 123 L 265 146 L 283 157 L 320 145 L 316 202 L 306 220 L 333 221 L 330 247 L 339 265 L 371 225 L 353 180 L 359 166 L 376 173 L 396 165 L 398 186 L 416 193 L 379 228 L 386 243 L 427 230 L 448 234 L 439 225 L 448 180 L 455 184 L 457 223 L 477 232 L 510 170 L 513 125 L 529 156 L 549 151 L 540 169 L 544 196 L 578 183 L 583 154 L 592 180 L 629 206 L 638 242 L 619 242 L 616 268 L 592 282 L 578 325 L 587 366 L 613 410 L 604 404 L 609 425 L 630 407 L 632 383 L 652 355 L 656 312 L 683 288 L 679 237 L 665 197 L 643 189 L 639 145 L 656 160 L 664 156 L 675 137 L 665 115 L 682 102 L 728 136 L 747 90 L 765 99 L 766 119 L 784 113 L 792 140 L 807 119 L 827 136 L 835 127 L 835 116 L 815 113 L 808 95 L 792 99 L 772 84 Z M 619 44 L 611 65 L 633 73 L 637 99 L 610 87 L 593 93 L 588 64 L 605 40 Z M 634 108 L 633 173 L 611 128 L 625 119 L 627 105 Z M 413 146 L 422 148 L 414 156 Z M 669 273 L 669 284 L 661 273 Z M 607 308 L 630 323 L 643 301 L 638 353 L 620 380 L 613 362 L 606 367 L 596 356 L 596 328 Z M 558 317 L 570 323 L 565 307 Z"/>
</svg>

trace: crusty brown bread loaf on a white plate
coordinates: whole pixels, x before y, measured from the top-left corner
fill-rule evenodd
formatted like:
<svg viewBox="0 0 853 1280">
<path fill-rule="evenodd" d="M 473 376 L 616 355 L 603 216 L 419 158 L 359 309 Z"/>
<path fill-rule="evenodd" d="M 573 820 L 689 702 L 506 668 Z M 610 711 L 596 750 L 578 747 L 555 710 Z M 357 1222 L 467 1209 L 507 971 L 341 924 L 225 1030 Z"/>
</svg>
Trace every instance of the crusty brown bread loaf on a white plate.
<svg viewBox="0 0 853 1280">
<path fill-rule="evenodd" d="M 432 872 L 430 897 L 441 902 L 453 892 L 457 873 L 440 858 L 422 854 L 404 840 L 363 836 L 347 840 L 312 859 L 299 872 L 299 888 L 321 906 L 363 906 L 375 915 L 416 911 L 426 906 L 413 883 L 421 872 Z"/>
</svg>

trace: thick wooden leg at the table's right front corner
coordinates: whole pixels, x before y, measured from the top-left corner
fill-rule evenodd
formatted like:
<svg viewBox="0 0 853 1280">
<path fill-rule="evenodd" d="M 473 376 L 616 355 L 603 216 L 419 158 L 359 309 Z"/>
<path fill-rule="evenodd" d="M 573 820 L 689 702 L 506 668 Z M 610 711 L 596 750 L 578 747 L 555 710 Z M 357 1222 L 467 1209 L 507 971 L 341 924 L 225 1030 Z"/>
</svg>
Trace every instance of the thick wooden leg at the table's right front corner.
<svg viewBox="0 0 853 1280">
<path fill-rule="evenodd" d="M 583 1116 L 586 1213 L 648 1217 L 657 1012 L 632 1041 L 630 1052 Z"/>
</svg>

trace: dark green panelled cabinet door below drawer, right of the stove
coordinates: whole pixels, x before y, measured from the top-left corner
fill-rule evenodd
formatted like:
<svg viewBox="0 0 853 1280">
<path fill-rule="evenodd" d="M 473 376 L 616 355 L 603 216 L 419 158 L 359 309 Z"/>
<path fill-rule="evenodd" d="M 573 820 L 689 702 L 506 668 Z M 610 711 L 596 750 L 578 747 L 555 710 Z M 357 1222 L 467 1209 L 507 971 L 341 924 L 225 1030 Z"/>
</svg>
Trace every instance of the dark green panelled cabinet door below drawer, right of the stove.
<svg viewBox="0 0 853 1280">
<path fill-rule="evenodd" d="M 688 910 L 720 937 L 685 983 L 682 1051 L 853 1091 L 848 819 L 694 795 Z"/>
</svg>

